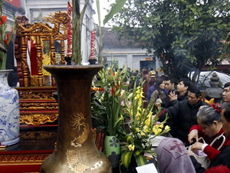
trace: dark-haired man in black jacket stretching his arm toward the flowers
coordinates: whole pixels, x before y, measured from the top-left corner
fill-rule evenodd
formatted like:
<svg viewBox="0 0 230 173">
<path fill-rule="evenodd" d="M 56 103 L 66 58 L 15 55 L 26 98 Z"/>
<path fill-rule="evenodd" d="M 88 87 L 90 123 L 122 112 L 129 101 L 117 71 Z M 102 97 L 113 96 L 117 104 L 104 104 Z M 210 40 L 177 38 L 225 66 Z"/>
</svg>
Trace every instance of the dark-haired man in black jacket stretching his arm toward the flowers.
<svg viewBox="0 0 230 173">
<path fill-rule="evenodd" d="M 159 121 L 164 121 L 168 115 L 168 122 L 177 122 L 177 126 L 172 126 L 173 137 L 179 138 L 182 142 L 187 142 L 189 129 L 197 124 L 196 114 L 200 106 L 204 105 L 201 100 L 201 93 L 195 86 L 190 86 L 188 100 L 178 102 L 176 105 L 163 109 L 159 113 Z"/>
</svg>

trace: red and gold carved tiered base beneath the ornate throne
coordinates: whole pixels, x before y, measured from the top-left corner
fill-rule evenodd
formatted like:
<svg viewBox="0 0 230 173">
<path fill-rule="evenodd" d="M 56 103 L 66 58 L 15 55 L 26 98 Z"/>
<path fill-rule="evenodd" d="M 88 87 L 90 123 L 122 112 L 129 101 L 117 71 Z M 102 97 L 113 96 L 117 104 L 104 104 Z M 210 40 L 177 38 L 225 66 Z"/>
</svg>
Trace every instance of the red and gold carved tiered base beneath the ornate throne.
<svg viewBox="0 0 230 173">
<path fill-rule="evenodd" d="M 53 97 L 56 87 L 19 87 L 20 123 L 40 125 L 58 118 L 58 103 Z"/>
</svg>

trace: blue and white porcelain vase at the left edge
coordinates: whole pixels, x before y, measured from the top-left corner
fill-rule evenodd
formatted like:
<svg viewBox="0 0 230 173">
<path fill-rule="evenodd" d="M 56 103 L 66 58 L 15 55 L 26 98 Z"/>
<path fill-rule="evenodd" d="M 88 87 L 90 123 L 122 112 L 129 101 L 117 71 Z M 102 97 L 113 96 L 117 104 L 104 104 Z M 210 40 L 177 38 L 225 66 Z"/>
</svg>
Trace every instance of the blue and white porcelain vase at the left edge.
<svg viewBox="0 0 230 173">
<path fill-rule="evenodd" d="M 0 70 L 0 145 L 19 142 L 18 91 L 8 85 L 8 74 L 13 70 Z"/>
</svg>

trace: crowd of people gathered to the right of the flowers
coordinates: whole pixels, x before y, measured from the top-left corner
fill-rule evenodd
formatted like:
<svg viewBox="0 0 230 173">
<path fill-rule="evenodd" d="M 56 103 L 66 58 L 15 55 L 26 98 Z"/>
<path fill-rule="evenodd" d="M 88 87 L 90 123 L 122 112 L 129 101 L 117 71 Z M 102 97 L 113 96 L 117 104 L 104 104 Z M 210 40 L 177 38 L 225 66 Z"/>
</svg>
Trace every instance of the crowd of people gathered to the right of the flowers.
<svg viewBox="0 0 230 173">
<path fill-rule="evenodd" d="M 171 127 L 171 137 L 157 148 L 159 172 L 230 172 L 230 81 L 224 84 L 221 103 L 209 104 L 186 78 L 176 82 L 147 69 L 137 76 L 138 72 L 130 73 L 130 88 L 132 78 L 139 85 L 143 82 L 146 106 L 155 104 L 159 121 L 167 117 Z M 198 162 L 197 155 L 206 158 L 206 165 Z"/>
</svg>

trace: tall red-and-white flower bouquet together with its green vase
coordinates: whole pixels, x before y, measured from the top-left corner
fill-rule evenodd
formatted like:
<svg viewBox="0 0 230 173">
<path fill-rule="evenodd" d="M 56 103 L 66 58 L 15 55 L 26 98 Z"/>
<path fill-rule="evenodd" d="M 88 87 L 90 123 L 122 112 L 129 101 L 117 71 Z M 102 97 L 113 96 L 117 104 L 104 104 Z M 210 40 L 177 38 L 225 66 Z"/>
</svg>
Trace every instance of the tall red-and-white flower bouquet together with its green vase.
<svg viewBox="0 0 230 173">
<path fill-rule="evenodd" d="M 108 70 L 102 69 L 98 73 L 97 82 L 101 89 L 95 90 L 92 104 L 93 122 L 96 121 L 97 129 L 105 134 L 104 152 L 113 168 L 117 167 L 120 161 L 118 136 L 123 131 L 121 125 L 124 124 L 124 99 L 128 88 L 125 83 L 126 74 L 127 70 L 115 70 L 114 65 Z"/>
</svg>

